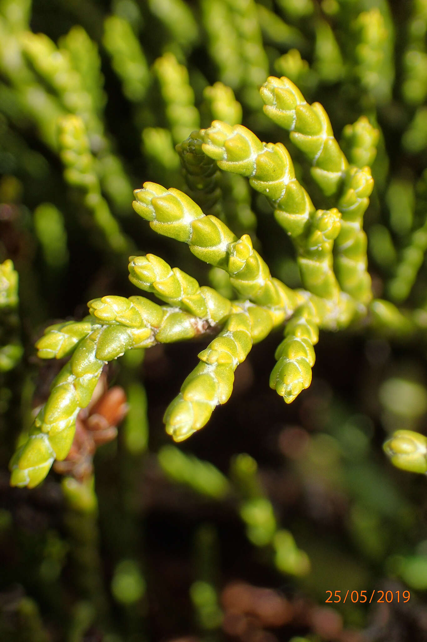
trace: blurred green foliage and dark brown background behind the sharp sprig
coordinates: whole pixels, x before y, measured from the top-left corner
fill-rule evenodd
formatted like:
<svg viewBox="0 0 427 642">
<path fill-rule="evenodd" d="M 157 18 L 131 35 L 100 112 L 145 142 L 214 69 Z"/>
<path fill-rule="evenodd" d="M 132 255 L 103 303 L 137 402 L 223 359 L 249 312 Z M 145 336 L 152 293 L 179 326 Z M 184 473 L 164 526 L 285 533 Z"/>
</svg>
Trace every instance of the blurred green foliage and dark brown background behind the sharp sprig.
<svg viewBox="0 0 427 642">
<path fill-rule="evenodd" d="M 175 144 L 213 118 L 241 120 L 286 143 L 327 207 L 262 113 L 270 73 L 324 105 L 337 139 L 347 125 L 344 149 L 366 147 L 348 127 L 359 116 L 380 130 L 365 217 L 373 289 L 426 327 L 426 34 L 426 0 L 0 0 L 2 641 L 427 639 L 425 480 L 382 452 L 396 429 L 424 429 L 425 333 L 396 336 L 392 319 L 323 333 L 291 406 L 268 387 L 268 338 L 229 403 L 179 447 L 162 417 L 200 343 L 127 354 L 105 374 L 128 412 L 113 439 L 118 401 L 97 407 L 111 440 L 95 480 L 90 417 L 78 470 L 31 491 L 10 489 L 7 471 L 62 365 L 37 360 L 35 340 L 93 297 L 134 294 L 129 254 L 159 254 L 230 295 L 221 273 L 133 213 L 144 180 L 184 189 Z M 79 148 L 61 130 L 70 114 Z M 299 286 L 266 202 L 225 180 L 234 232 Z M 394 601 L 325 604 L 347 589 Z"/>
</svg>

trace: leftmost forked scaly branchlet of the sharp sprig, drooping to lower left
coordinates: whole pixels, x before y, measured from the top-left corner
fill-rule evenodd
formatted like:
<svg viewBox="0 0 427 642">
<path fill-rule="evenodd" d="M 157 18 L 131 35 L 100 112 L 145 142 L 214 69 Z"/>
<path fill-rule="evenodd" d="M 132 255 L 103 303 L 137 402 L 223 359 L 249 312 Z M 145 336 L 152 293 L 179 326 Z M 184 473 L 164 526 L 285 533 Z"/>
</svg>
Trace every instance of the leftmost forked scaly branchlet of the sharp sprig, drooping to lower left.
<svg viewBox="0 0 427 642">
<path fill-rule="evenodd" d="M 202 332 L 198 317 L 177 308 L 162 308 L 143 297 L 102 297 L 88 305 L 90 317 L 52 325 L 36 343 L 42 358 L 72 356 L 54 380 L 27 442 L 12 458 L 13 485 L 37 485 L 55 459 L 67 456 L 77 414 L 90 402 L 105 363 L 127 350 L 193 338 Z"/>
</svg>

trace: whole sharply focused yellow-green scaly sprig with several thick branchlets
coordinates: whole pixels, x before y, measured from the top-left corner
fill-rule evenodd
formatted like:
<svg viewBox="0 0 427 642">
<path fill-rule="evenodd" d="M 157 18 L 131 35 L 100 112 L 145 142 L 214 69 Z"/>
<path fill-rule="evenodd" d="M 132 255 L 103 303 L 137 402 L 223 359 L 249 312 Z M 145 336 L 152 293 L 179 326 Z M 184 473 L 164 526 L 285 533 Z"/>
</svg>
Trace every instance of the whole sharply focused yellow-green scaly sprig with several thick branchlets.
<svg viewBox="0 0 427 642">
<path fill-rule="evenodd" d="M 54 458 L 65 458 L 77 413 L 89 403 L 104 363 L 128 350 L 193 338 L 209 328 L 219 331 L 200 352 L 200 363 L 166 410 L 166 431 L 181 441 L 202 428 L 214 408 L 229 399 L 234 370 L 253 343 L 274 327 L 287 322 L 270 385 L 291 403 L 310 385 L 319 328 L 340 329 L 366 314 L 372 295 L 362 217 L 373 188 L 369 167 L 348 164 L 323 108 L 307 105 L 287 78 L 269 78 L 262 96 L 266 114 L 291 130 L 294 144 L 312 164 L 313 177 L 327 195 L 335 194 L 337 207 L 316 210 L 296 179 L 283 144 L 262 143 L 247 128 L 222 121 L 193 132 L 177 150 L 198 204 L 178 189 L 147 182 L 134 192 L 134 209 L 158 234 L 187 243 L 192 254 L 227 273 L 240 298 L 232 301 L 214 288 L 200 287 L 196 279 L 153 254 L 131 256 L 131 282 L 154 293 L 166 306 L 144 297 L 106 296 L 89 302 L 90 315 L 83 321 L 47 329 L 37 343 L 39 356 L 72 356 L 54 381 L 28 442 L 13 458 L 12 483 L 33 486 L 44 478 Z M 74 132 L 81 121 L 65 125 L 64 161 L 68 171 L 77 172 L 75 180 L 83 180 L 92 160 L 85 141 L 80 151 L 74 150 L 74 139 L 84 138 L 83 130 Z M 347 135 L 350 148 L 357 150 L 355 159 L 374 157 L 375 132 L 369 123 L 355 123 Z M 239 180 L 248 177 L 250 185 L 266 196 L 294 244 L 305 290 L 292 290 L 272 277 L 250 236 L 238 238 L 226 225 L 221 169 Z M 96 198 L 97 193 L 96 185 L 88 186 L 88 196 Z M 104 223 L 107 231 L 108 220 Z"/>
</svg>

